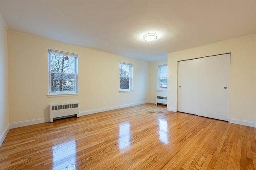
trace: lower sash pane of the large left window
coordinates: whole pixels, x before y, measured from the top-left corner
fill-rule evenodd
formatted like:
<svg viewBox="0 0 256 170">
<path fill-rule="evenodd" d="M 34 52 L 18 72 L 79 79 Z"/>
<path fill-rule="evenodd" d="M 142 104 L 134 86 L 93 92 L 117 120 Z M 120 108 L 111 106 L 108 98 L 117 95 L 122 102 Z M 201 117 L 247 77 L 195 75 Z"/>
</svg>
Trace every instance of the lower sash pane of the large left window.
<svg viewBox="0 0 256 170">
<path fill-rule="evenodd" d="M 52 92 L 75 91 L 75 74 L 51 74 Z M 73 85 L 72 85 L 73 84 Z"/>
</svg>

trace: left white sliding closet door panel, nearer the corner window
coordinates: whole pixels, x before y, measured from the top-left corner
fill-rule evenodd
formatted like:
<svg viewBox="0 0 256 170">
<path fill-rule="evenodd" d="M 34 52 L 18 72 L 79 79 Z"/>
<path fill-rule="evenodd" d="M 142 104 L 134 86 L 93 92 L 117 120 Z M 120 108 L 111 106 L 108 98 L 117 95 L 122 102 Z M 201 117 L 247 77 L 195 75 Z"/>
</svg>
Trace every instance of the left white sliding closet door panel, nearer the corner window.
<svg viewBox="0 0 256 170">
<path fill-rule="evenodd" d="M 198 115 L 199 59 L 178 62 L 178 111 Z"/>
</svg>

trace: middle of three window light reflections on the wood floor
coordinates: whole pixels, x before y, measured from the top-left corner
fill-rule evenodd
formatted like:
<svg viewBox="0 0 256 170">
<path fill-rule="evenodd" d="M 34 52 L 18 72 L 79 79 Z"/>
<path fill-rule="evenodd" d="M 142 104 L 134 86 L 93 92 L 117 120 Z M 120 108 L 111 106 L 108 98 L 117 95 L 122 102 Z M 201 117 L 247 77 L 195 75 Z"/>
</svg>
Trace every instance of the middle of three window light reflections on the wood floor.
<svg viewBox="0 0 256 170">
<path fill-rule="evenodd" d="M 130 123 L 119 125 L 119 149 L 124 150 L 130 147 Z"/>
</svg>

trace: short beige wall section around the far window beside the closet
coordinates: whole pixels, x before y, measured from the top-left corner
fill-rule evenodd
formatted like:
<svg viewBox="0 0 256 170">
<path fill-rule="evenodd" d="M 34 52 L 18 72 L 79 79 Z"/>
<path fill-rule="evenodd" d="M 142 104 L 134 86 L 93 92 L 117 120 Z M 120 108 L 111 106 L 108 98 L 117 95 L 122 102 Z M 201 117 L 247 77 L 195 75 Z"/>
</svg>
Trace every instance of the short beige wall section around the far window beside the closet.
<svg viewBox="0 0 256 170">
<path fill-rule="evenodd" d="M 167 96 L 166 91 L 157 90 L 158 66 L 164 64 L 167 64 L 167 59 L 149 62 L 149 100 L 152 103 L 156 103 L 156 95 Z"/>
</svg>

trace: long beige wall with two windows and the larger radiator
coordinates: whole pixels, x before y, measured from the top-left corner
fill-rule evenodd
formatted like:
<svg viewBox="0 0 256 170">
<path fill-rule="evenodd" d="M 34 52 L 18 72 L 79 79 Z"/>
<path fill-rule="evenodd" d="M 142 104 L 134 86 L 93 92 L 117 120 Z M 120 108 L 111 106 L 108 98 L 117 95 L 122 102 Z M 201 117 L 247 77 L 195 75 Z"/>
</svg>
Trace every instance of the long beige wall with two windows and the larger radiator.
<svg viewBox="0 0 256 170">
<path fill-rule="evenodd" d="M 48 48 L 78 54 L 78 96 L 47 96 Z M 48 118 L 49 104 L 80 102 L 84 112 L 148 101 L 146 61 L 17 32 L 8 32 L 8 57 L 10 123 Z M 133 92 L 119 93 L 119 62 L 133 64 Z"/>
</svg>

